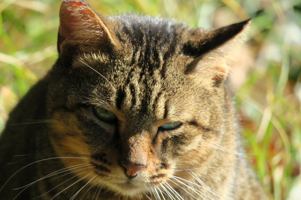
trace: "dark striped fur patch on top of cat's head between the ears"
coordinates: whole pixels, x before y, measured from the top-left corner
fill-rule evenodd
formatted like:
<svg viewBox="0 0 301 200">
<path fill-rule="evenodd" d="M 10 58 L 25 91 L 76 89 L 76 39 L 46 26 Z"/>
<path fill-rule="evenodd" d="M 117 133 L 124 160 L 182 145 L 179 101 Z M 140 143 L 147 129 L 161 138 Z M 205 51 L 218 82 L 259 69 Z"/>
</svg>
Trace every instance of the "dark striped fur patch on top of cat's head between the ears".
<svg viewBox="0 0 301 200">
<path fill-rule="evenodd" d="M 120 27 L 115 30 L 116 36 L 128 49 L 127 52 L 131 52 L 129 64 L 142 69 L 139 81 L 143 74 L 152 74 L 156 70 L 160 70 L 161 78 L 164 79 L 167 61 L 175 54 L 178 45 L 177 26 L 183 25 L 136 15 L 115 18 L 121 21 Z"/>
</svg>

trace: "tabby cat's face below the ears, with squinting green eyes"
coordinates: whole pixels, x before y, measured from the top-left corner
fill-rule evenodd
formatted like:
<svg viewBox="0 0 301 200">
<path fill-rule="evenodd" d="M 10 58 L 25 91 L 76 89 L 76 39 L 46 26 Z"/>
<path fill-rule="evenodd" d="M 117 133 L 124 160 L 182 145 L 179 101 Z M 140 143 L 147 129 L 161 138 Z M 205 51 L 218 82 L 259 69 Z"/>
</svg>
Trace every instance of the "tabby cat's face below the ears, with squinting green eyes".
<svg viewBox="0 0 301 200">
<path fill-rule="evenodd" d="M 143 71 L 137 63 L 99 54 L 79 55 L 69 70 L 57 74 L 51 93 L 60 94 L 49 96 L 58 105 L 51 112 L 56 151 L 92 155 L 63 159 L 66 165 L 92 164 L 85 166 L 94 166 L 86 173 L 78 171 L 80 177 L 93 172 L 87 180 L 97 175 L 95 180 L 123 194 L 147 190 L 185 166 L 194 168 L 187 162 L 201 151 L 203 137 L 215 134 L 216 120 L 221 121 L 222 93 L 185 75 L 181 62 L 189 58 L 178 57 L 166 63 L 164 78 L 161 68 Z M 104 110 L 109 116 L 102 116 Z M 122 162 L 143 168 L 129 178 Z"/>
</svg>

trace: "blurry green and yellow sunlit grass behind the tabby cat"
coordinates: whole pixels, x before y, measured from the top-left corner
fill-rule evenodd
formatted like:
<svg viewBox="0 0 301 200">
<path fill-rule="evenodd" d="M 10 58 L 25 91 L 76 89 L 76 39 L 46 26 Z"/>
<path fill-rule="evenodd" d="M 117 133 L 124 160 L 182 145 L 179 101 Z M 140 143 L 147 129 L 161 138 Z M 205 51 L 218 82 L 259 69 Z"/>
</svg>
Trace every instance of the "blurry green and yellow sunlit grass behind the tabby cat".
<svg viewBox="0 0 301 200">
<path fill-rule="evenodd" d="M 211 28 L 254 16 L 231 77 L 248 159 L 275 199 L 301 197 L 300 0 L 89 0 L 103 15 L 141 13 Z M 0 130 L 57 58 L 60 0 L 0 0 Z"/>
</svg>

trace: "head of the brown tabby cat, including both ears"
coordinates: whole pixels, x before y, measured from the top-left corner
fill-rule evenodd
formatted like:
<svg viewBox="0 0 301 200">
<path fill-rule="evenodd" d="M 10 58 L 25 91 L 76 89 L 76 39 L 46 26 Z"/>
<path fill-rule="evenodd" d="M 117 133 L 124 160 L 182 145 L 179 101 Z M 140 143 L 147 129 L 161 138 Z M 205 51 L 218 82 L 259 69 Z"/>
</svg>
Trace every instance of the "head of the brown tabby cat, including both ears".
<svg viewBox="0 0 301 200">
<path fill-rule="evenodd" d="M 128 196 L 202 166 L 213 148 L 206 139 L 222 137 L 232 118 L 225 79 L 249 22 L 191 29 L 63 1 L 47 96 L 52 145 L 75 157 L 63 163 Z"/>
</svg>

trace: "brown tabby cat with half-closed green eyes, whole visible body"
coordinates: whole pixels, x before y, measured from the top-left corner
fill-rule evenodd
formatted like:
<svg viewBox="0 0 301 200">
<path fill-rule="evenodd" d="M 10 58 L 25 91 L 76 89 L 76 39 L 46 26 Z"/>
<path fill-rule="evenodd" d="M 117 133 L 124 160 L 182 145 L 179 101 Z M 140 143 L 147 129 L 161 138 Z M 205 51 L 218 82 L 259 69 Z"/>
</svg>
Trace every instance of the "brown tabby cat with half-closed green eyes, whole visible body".
<svg viewBox="0 0 301 200">
<path fill-rule="evenodd" d="M 1 134 L 0 199 L 268 199 L 227 78 L 249 25 L 192 29 L 64 0 L 58 59 Z"/>
</svg>

